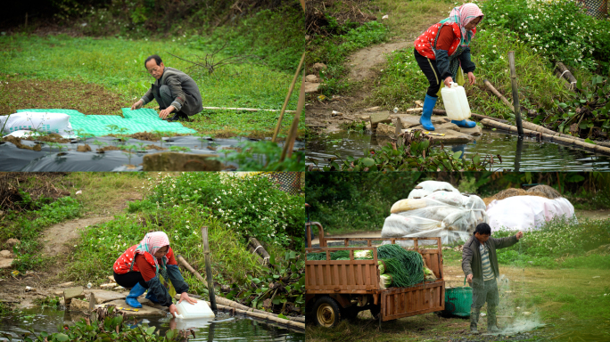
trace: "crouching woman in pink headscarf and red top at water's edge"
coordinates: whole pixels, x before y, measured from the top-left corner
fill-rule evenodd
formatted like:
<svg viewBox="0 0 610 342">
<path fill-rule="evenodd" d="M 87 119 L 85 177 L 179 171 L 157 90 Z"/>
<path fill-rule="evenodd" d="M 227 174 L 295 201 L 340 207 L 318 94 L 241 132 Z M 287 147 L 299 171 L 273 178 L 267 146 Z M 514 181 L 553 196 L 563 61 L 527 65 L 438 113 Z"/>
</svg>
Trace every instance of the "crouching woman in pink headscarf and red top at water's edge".
<svg viewBox="0 0 610 342">
<path fill-rule="evenodd" d="M 128 248 L 113 265 L 114 280 L 131 289 L 125 302 L 140 308 L 142 304 L 137 297 L 148 289 L 146 299 L 169 307 L 169 312 L 176 316 L 176 305 L 171 301 L 169 281 L 183 300 L 195 304 L 197 301 L 188 297 L 188 284 L 177 266 L 174 251 L 169 247 L 168 235 L 165 232 L 149 232 L 139 244 Z"/>
</svg>

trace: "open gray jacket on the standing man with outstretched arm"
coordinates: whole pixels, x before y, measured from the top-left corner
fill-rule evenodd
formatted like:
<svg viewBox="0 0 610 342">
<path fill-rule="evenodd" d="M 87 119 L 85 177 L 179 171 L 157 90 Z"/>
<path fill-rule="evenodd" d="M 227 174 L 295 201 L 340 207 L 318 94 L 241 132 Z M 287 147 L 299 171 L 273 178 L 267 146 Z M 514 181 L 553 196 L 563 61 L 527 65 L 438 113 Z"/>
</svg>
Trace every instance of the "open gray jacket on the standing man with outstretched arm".
<svg viewBox="0 0 610 342">
<path fill-rule="evenodd" d="M 496 278 L 499 276 L 496 249 L 511 247 L 518 241 L 515 235 L 502 239 L 490 238 L 485 241 L 485 245 L 490 249 L 490 265 Z M 462 270 L 464 270 L 466 276 L 473 274 L 473 287 L 483 286 L 482 261 L 479 246 L 481 246 L 481 242 L 473 234 L 462 248 Z"/>
</svg>

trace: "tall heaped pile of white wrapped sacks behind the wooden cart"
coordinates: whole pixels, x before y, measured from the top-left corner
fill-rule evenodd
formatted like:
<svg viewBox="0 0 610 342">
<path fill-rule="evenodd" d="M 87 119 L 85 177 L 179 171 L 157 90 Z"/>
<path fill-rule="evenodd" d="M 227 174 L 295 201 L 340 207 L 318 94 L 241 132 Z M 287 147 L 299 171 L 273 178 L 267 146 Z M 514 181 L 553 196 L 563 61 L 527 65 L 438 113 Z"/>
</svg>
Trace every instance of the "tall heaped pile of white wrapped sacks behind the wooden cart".
<svg viewBox="0 0 610 342">
<path fill-rule="evenodd" d="M 408 199 L 394 203 L 383 224 L 383 238 L 441 237 L 443 244 L 451 244 L 467 240 L 477 224 L 487 222 L 480 197 L 462 195 L 444 182 L 426 181 L 417 184 L 416 188 L 420 187 L 411 191 Z"/>
</svg>

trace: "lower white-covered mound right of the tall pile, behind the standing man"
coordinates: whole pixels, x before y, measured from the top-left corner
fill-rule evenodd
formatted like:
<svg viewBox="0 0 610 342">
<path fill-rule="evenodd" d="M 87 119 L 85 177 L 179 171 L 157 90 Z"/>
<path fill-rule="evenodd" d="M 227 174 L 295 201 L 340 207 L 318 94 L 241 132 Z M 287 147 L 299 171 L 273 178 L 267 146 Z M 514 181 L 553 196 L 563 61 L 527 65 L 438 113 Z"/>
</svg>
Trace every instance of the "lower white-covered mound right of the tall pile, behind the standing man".
<svg viewBox="0 0 610 342">
<path fill-rule="evenodd" d="M 540 196 L 514 196 L 495 199 L 487 207 L 491 230 L 511 231 L 539 229 L 542 224 L 559 216 L 571 218 L 574 207 L 565 198 L 546 199 Z"/>
</svg>

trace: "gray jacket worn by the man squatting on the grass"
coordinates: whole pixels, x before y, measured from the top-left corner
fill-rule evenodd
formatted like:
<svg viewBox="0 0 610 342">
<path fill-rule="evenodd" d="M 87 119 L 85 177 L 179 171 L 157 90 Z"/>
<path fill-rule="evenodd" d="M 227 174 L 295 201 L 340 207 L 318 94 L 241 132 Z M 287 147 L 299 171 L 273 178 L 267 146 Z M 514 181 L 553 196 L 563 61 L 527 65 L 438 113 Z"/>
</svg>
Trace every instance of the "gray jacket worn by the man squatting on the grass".
<svg viewBox="0 0 610 342">
<path fill-rule="evenodd" d="M 168 85 L 171 94 L 176 96 L 174 102 L 171 102 L 176 111 L 182 110 L 186 115 L 194 115 L 203 110 L 202 94 L 194 79 L 178 69 L 168 67 L 163 69 L 161 78 L 155 80 L 151 89 L 142 96 L 142 102 L 146 104 L 159 98 L 161 85 Z"/>
</svg>

